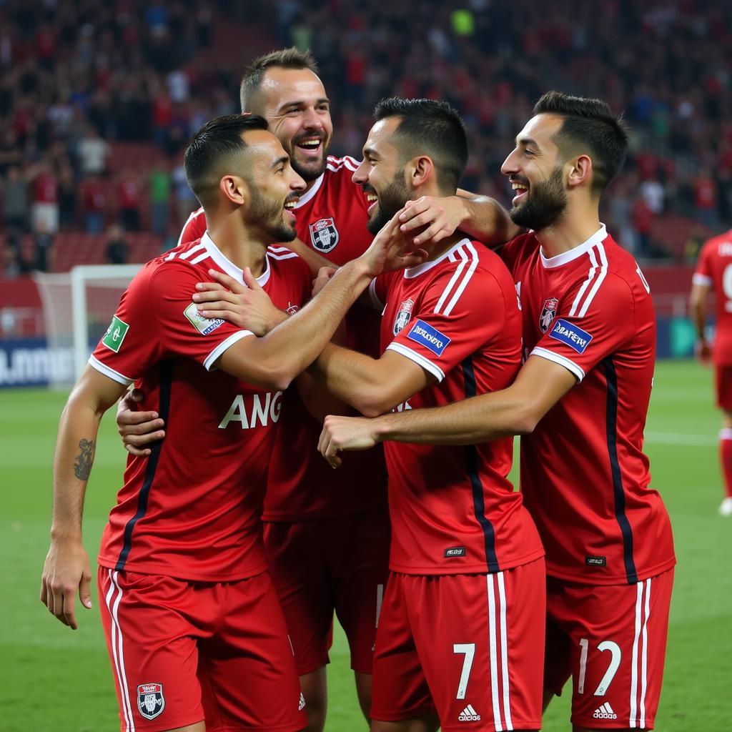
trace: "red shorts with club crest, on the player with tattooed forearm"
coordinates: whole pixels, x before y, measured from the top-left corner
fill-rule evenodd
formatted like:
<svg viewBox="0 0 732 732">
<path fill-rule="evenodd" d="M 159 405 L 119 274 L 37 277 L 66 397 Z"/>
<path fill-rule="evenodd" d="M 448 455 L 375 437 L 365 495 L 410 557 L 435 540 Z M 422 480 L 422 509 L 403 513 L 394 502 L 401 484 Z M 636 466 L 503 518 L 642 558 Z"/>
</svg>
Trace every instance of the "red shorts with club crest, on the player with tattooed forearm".
<svg viewBox="0 0 732 732">
<path fill-rule="evenodd" d="M 305 728 L 305 702 L 267 572 L 187 582 L 100 567 L 122 731 Z"/>
</svg>

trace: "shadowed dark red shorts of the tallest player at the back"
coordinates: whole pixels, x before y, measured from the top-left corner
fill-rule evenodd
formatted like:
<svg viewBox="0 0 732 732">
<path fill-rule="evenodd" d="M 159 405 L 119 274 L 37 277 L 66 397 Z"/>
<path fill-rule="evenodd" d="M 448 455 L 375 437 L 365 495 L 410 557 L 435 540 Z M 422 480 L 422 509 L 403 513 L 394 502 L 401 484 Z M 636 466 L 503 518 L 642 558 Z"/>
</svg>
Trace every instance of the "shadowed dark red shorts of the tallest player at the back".
<svg viewBox="0 0 732 732">
<path fill-rule="evenodd" d="M 389 511 L 265 523 L 269 571 L 295 651 L 297 672 L 328 663 L 333 611 L 351 668 L 371 673 L 378 609 L 389 575 Z"/>
</svg>

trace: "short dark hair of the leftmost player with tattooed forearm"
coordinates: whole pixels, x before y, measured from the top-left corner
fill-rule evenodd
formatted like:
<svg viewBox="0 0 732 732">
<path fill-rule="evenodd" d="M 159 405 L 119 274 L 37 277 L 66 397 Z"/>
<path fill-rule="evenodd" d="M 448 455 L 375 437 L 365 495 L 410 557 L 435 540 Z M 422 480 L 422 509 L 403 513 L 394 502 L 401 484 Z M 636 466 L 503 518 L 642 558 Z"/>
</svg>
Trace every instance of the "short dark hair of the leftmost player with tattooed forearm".
<svg viewBox="0 0 732 732">
<path fill-rule="evenodd" d="M 206 122 L 187 146 L 184 155 L 185 177 L 201 206 L 212 186 L 218 184 L 220 166 L 247 148 L 243 132 L 266 130 L 267 121 L 255 114 L 225 114 Z"/>
</svg>

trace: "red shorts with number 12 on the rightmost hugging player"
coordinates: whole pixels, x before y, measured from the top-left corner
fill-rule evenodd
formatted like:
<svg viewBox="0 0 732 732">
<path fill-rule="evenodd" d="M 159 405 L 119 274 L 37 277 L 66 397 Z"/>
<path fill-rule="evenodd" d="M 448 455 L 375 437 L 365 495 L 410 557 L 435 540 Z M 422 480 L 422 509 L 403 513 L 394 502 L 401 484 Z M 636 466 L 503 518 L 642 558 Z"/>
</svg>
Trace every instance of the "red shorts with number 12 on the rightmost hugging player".
<svg viewBox="0 0 732 732">
<path fill-rule="evenodd" d="M 545 687 L 572 676 L 572 724 L 653 729 L 673 569 L 633 585 L 547 580 Z"/>
</svg>

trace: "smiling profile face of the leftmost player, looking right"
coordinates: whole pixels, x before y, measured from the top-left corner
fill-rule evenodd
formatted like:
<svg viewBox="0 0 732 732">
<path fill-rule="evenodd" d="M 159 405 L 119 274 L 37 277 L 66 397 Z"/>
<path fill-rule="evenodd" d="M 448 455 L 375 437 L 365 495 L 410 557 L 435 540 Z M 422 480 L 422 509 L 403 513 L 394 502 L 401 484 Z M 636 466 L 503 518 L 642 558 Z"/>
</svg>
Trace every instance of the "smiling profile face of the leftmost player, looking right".
<svg viewBox="0 0 732 732">
<path fill-rule="evenodd" d="M 292 166 L 282 144 L 265 130 L 244 133 L 249 171 L 243 176 L 250 193 L 245 221 L 272 242 L 291 242 L 296 236 L 295 203 L 305 181 Z"/>
</svg>

